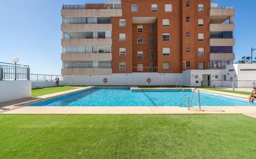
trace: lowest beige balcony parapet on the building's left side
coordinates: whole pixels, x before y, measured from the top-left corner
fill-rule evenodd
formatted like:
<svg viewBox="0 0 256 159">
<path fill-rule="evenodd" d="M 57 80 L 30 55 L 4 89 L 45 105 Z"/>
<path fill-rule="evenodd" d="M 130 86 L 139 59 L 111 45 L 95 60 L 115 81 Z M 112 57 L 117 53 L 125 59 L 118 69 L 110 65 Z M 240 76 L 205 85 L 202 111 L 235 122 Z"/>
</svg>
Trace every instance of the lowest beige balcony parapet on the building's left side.
<svg viewBox="0 0 256 159">
<path fill-rule="evenodd" d="M 62 69 L 62 75 L 111 75 L 111 68 Z"/>
</svg>

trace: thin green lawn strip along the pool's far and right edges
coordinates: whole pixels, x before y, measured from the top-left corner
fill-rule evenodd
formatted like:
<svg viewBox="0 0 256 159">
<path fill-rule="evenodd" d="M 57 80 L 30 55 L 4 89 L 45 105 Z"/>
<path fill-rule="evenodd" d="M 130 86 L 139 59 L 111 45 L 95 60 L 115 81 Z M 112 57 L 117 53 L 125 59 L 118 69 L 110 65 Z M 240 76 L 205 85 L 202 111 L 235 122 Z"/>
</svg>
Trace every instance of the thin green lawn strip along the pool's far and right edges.
<svg viewBox="0 0 256 159">
<path fill-rule="evenodd" d="M 139 86 L 139 88 L 157 88 L 157 87 L 160 87 L 160 86 Z M 162 86 L 162 87 L 175 88 L 174 85 L 165 85 L 165 86 Z M 191 87 L 183 86 L 183 88 L 191 88 Z M 216 91 L 227 92 L 227 93 L 237 93 L 237 94 L 240 94 L 240 95 L 250 95 L 250 92 L 245 92 L 245 91 L 225 90 L 225 89 L 221 89 L 221 88 L 210 88 L 210 87 L 198 87 L 198 88 L 203 88 L 203 89 L 206 89 L 206 90 L 216 90 Z"/>
</svg>

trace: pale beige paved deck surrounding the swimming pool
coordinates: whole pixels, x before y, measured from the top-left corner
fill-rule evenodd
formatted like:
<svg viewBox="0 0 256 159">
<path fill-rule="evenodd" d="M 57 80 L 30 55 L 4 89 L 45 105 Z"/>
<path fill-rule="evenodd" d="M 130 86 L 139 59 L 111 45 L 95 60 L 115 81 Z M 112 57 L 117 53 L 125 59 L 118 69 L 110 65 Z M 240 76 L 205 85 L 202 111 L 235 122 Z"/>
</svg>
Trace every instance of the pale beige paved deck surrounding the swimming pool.
<svg viewBox="0 0 256 159">
<path fill-rule="evenodd" d="M 2 114 L 245 114 L 256 118 L 256 106 L 202 106 L 180 108 L 178 106 L 23 106 L 30 102 L 46 100 L 49 98 L 79 92 L 93 87 L 83 87 L 64 92 L 52 93 L 36 98 L 25 98 L 21 100 L 0 103 Z M 176 88 L 138 88 L 131 87 L 131 90 L 173 90 Z M 194 89 L 194 88 L 183 88 Z M 217 92 L 214 90 L 199 89 L 202 92 L 217 93 L 238 98 L 248 98 L 247 95 L 235 93 Z"/>
</svg>

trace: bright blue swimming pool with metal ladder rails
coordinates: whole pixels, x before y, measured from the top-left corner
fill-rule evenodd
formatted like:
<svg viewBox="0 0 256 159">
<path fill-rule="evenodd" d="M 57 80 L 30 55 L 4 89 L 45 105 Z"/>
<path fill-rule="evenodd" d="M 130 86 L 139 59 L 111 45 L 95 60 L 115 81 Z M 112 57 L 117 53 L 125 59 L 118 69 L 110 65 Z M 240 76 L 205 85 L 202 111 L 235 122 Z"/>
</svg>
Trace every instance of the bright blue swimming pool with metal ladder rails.
<svg viewBox="0 0 256 159">
<path fill-rule="evenodd" d="M 192 90 L 130 90 L 130 88 L 91 88 L 28 106 L 180 106 L 184 95 Z M 202 106 L 256 106 L 240 98 L 201 92 Z M 187 107 L 185 101 L 183 107 Z M 193 106 L 198 106 L 195 94 Z"/>
</svg>

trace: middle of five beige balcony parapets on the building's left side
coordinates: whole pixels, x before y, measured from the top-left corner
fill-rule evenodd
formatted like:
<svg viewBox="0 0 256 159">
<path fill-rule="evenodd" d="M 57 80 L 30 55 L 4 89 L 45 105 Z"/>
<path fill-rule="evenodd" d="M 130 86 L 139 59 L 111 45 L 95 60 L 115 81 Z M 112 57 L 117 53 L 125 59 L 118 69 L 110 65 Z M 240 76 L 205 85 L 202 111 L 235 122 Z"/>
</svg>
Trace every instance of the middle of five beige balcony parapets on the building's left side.
<svg viewBox="0 0 256 159">
<path fill-rule="evenodd" d="M 62 38 L 62 46 L 112 46 L 111 38 Z"/>
</svg>

